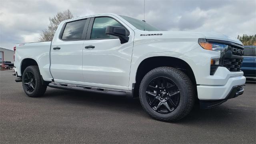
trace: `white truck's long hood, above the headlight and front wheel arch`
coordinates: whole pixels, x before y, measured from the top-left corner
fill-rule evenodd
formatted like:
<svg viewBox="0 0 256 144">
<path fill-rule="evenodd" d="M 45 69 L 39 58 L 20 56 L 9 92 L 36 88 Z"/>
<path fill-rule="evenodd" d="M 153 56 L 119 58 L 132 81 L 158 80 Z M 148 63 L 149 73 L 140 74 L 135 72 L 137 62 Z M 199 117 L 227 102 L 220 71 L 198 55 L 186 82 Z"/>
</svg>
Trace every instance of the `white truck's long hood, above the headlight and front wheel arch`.
<svg viewBox="0 0 256 144">
<path fill-rule="evenodd" d="M 236 44 L 243 45 L 242 42 L 236 38 L 232 38 L 230 36 L 226 36 L 220 33 L 214 32 L 172 32 L 172 31 L 140 31 L 138 32 L 140 36 L 144 38 L 152 38 L 152 34 L 160 34 L 157 37 L 164 37 L 164 38 L 206 38 L 212 40 L 224 40 L 228 42 L 234 42 Z M 162 34 L 162 35 L 161 35 Z"/>
</svg>

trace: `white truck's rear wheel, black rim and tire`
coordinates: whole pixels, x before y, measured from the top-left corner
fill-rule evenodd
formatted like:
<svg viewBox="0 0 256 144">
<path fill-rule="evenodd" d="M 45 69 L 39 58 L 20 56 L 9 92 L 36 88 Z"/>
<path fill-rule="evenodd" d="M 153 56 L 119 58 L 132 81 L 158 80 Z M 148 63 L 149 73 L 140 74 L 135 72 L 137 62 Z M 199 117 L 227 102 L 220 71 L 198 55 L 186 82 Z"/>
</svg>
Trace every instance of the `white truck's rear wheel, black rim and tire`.
<svg viewBox="0 0 256 144">
<path fill-rule="evenodd" d="M 34 78 L 32 75 L 34 75 Z M 30 80 L 31 78 L 33 80 Z M 28 66 L 24 70 L 22 74 L 22 87 L 29 97 L 39 97 L 44 95 L 47 86 L 42 84 L 42 78 L 38 66 Z"/>
</svg>

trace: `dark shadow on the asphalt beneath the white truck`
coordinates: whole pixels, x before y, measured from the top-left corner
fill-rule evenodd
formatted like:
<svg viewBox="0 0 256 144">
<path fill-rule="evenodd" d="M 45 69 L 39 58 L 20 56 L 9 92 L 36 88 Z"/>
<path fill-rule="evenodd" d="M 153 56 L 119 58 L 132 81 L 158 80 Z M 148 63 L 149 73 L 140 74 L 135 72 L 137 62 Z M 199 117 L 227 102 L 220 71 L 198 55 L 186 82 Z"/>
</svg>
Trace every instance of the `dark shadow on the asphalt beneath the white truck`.
<svg viewBox="0 0 256 144">
<path fill-rule="evenodd" d="M 122 112 L 125 115 L 136 115 L 138 118 L 153 120 L 144 112 L 138 98 L 126 98 L 122 96 L 113 96 L 110 94 L 98 94 L 92 92 L 77 92 L 59 89 L 50 89 L 42 98 L 51 99 L 58 103 L 68 103 L 69 105 L 82 105 L 96 108 L 98 110 Z M 228 102 L 226 102 L 228 103 Z M 200 109 L 194 106 L 193 110 L 182 120 L 175 124 L 209 124 L 209 123 L 232 123 L 240 117 L 239 109 L 230 108 L 225 103 L 211 109 Z M 155 120 L 156 122 L 160 122 Z"/>
</svg>

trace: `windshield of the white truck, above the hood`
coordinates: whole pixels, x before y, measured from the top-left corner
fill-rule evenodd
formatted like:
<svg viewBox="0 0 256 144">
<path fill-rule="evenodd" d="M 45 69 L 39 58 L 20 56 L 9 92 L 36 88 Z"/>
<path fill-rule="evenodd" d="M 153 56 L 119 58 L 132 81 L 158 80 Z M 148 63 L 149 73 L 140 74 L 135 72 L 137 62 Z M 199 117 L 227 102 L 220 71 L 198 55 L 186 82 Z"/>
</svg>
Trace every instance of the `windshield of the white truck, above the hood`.
<svg viewBox="0 0 256 144">
<path fill-rule="evenodd" d="M 132 24 L 135 28 L 138 28 L 139 30 L 145 30 L 145 31 L 159 31 L 158 28 L 155 28 L 154 26 L 151 26 L 150 24 L 143 22 L 142 20 L 138 20 L 135 18 L 131 18 L 128 16 L 122 16 L 119 15 L 122 18 L 124 18 L 127 22 Z M 144 29 L 144 24 L 145 24 L 145 29 Z"/>
</svg>

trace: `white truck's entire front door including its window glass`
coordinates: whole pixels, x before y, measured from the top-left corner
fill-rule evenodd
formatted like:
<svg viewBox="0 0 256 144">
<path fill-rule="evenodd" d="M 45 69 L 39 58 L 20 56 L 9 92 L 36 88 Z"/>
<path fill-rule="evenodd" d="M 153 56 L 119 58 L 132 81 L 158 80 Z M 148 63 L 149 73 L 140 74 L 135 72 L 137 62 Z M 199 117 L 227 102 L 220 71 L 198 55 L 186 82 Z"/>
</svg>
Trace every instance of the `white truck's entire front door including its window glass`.
<svg viewBox="0 0 256 144">
<path fill-rule="evenodd" d="M 86 83 L 100 87 L 129 85 L 134 31 L 126 28 L 129 41 L 124 44 L 120 43 L 119 38 L 105 34 L 107 26 L 124 25 L 117 18 L 91 18 L 83 46 L 83 76 Z"/>
</svg>

